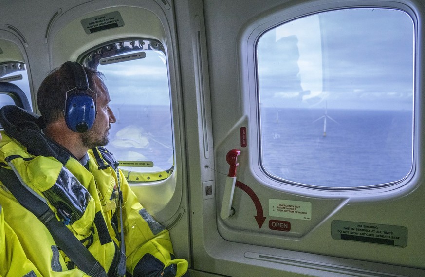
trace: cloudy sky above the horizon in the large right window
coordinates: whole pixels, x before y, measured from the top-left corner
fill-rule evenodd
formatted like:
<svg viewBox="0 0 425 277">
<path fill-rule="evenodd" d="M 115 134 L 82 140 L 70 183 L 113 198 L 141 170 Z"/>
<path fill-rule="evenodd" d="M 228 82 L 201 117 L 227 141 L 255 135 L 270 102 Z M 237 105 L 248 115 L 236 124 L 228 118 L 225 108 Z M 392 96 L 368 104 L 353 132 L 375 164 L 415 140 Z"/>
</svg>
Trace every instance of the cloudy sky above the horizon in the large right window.
<svg viewBox="0 0 425 277">
<path fill-rule="evenodd" d="M 266 32 L 257 48 L 264 107 L 411 110 L 413 23 L 402 11 L 346 9 Z"/>
</svg>

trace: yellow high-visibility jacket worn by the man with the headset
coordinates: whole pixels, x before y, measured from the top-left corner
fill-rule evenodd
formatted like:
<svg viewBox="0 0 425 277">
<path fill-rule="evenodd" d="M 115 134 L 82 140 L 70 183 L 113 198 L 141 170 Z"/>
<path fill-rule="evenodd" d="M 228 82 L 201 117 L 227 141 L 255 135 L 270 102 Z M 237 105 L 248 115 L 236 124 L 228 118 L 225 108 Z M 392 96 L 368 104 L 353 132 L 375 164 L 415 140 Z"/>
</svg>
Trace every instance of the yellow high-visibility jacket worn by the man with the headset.
<svg viewBox="0 0 425 277">
<path fill-rule="evenodd" d="M 127 271 L 135 277 L 150 276 L 149 271 L 176 264 L 176 276 L 185 274 L 187 261 L 174 257 L 168 231 L 138 202 L 121 171 L 111 165 L 113 161 L 105 148 L 89 151 L 86 169 L 72 156 L 63 164 L 52 156 L 30 154 L 17 140 L 5 132 L 1 134 L 0 166 L 13 169 L 23 184 L 45 200 L 55 212 L 57 220 L 68 224 L 68 229 L 83 242 L 106 272 L 116 261 L 116 245 L 120 246 L 119 215 L 114 217 L 120 187 Z M 68 200 L 60 200 L 60 195 L 68 195 L 68 198 L 63 198 L 74 201 L 69 205 L 74 208 L 72 212 L 62 208 L 67 206 L 62 202 Z M 36 276 L 87 276 L 58 248 L 43 223 L 21 206 L 1 182 L 0 204 L 5 222 L 16 233 L 16 243 L 20 244 L 27 259 L 36 267 Z M 67 215 L 71 216 L 67 218 Z M 10 276 L 21 276 L 22 268 L 17 264 L 14 261 L 10 263 L 6 271 Z"/>
</svg>

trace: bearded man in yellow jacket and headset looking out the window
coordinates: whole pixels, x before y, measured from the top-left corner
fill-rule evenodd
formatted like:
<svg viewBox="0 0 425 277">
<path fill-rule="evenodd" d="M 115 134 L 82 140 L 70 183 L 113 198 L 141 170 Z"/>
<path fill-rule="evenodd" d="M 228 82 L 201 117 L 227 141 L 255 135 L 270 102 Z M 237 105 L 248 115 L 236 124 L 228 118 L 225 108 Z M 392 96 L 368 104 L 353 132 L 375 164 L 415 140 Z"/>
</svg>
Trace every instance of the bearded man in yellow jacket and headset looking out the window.
<svg viewBox="0 0 425 277">
<path fill-rule="evenodd" d="M 88 89 L 82 85 L 86 76 Z M 115 122 L 102 77 L 91 68 L 66 62 L 38 89 L 41 117 L 3 107 L 0 166 L 13 169 L 24 187 L 48 204 L 54 220 L 63 222 L 90 251 L 96 276 L 123 276 L 126 270 L 126 276 L 134 277 L 183 276 L 187 261 L 174 257 L 168 231 L 138 203 L 118 163 L 102 147 Z M 85 104 L 87 98 L 92 104 Z M 82 110 L 75 114 L 77 108 Z M 0 204 L 5 221 L 41 276 L 95 275 L 81 270 L 78 257 L 65 253 L 66 247 L 54 240 L 55 232 L 6 188 L 0 189 Z"/>
</svg>

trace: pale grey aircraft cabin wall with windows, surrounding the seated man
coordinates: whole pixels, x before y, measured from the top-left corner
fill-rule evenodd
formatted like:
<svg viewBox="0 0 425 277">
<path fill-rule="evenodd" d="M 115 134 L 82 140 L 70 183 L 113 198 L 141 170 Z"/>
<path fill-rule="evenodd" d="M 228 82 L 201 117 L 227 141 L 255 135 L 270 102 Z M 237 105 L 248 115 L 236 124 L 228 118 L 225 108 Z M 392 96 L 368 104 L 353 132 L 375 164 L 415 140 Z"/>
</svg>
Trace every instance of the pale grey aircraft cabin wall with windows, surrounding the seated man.
<svg viewBox="0 0 425 277">
<path fill-rule="evenodd" d="M 425 1 L 0 0 L 0 14 L 0 107 L 39 115 L 66 61 L 102 72 L 105 148 L 191 277 L 425 276 Z"/>
</svg>

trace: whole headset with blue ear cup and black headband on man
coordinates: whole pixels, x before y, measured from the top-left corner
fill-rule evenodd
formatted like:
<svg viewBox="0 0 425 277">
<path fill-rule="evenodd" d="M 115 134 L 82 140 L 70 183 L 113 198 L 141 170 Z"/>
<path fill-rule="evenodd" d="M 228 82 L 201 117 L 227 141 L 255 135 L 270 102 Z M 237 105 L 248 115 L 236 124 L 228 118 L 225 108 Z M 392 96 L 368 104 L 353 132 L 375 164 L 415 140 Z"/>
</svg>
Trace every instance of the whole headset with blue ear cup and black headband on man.
<svg viewBox="0 0 425 277">
<path fill-rule="evenodd" d="M 72 131 L 84 133 L 92 128 L 96 118 L 97 94 L 89 88 L 87 74 L 81 64 L 67 61 L 64 65 L 71 69 L 75 79 L 75 88 L 67 91 L 65 96 L 65 122 Z M 74 90 L 76 92 L 71 92 Z M 94 99 L 87 91 L 94 93 Z"/>
</svg>

